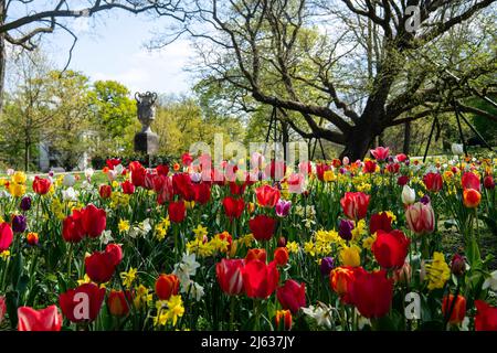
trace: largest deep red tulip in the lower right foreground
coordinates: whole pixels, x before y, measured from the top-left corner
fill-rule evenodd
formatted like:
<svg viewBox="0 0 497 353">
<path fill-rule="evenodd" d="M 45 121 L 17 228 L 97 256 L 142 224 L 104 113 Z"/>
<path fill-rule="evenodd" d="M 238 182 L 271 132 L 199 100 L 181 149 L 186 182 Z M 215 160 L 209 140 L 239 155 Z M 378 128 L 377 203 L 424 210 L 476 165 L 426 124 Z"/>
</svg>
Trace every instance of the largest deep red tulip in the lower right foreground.
<svg viewBox="0 0 497 353">
<path fill-rule="evenodd" d="M 350 301 L 360 314 L 371 319 L 381 318 L 390 311 L 393 298 L 393 280 L 387 271 L 360 272 L 349 284 Z"/>
</svg>

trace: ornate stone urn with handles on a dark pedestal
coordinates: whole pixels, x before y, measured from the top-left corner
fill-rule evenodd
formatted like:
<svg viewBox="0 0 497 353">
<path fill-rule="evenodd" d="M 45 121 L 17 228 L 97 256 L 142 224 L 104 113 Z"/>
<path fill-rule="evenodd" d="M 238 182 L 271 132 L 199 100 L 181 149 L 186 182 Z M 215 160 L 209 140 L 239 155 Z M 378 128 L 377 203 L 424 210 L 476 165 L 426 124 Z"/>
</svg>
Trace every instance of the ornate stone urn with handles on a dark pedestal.
<svg viewBox="0 0 497 353">
<path fill-rule="evenodd" d="M 136 93 L 138 120 L 141 122 L 141 131 L 135 135 L 135 152 L 156 154 L 159 149 L 159 137 L 150 129 L 156 118 L 156 93 Z"/>
</svg>

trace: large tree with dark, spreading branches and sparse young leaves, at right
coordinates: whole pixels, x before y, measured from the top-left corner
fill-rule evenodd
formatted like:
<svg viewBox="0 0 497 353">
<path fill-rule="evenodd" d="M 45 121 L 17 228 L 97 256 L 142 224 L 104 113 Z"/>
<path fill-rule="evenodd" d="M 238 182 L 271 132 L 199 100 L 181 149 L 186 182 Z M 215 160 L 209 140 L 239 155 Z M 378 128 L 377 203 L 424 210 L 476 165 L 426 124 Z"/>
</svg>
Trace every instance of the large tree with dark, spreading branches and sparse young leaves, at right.
<svg viewBox="0 0 497 353">
<path fill-rule="evenodd" d="M 356 159 L 389 127 L 450 111 L 453 97 L 495 83 L 495 2 L 197 0 L 179 33 L 197 39 L 204 84 L 248 109 L 278 107 L 304 138 Z"/>
</svg>

